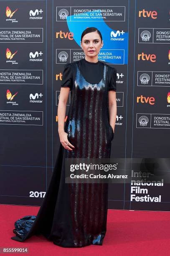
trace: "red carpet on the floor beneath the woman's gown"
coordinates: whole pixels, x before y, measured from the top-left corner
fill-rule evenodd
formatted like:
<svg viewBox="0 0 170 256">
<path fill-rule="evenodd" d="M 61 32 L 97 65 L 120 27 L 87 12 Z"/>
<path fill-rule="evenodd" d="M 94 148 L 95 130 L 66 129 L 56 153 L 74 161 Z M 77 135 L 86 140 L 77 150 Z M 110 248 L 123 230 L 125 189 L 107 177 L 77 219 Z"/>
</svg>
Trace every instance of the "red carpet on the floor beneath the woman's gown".
<svg viewBox="0 0 170 256">
<path fill-rule="evenodd" d="M 107 233 L 102 246 L 62 248 L 43 236 L 32 236 L 23 243 L 13 241 L 10 237 L 14 236 L 15 220 L 24 215 L 36 215 L 38 209 L 39 207 L 0 205 L 1 248 L 27 247 L 28 255 L 31 256 L 170 255 L 170 212 L 108 210 Z"/>
</svg>

